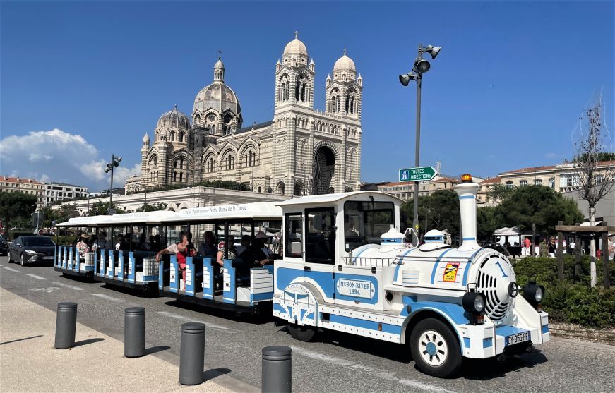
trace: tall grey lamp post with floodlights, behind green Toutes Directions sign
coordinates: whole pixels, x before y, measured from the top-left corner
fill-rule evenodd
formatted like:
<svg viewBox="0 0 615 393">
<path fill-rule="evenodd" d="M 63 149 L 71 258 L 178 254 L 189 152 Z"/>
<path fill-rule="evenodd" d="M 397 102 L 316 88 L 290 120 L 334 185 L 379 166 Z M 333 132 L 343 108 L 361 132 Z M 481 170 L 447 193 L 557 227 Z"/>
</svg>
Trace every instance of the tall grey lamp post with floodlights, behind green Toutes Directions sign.
<svg viewBox="0 0 615 393">
<path fill-rule="evenodd" d="M 427 45 L 423 47 L 423 44 L 419 44 L 419 55 L 416 59 L 414 59 L 414 67 L 412 67 L 412 72 L 407 74 L 402 74 L 399 76 L 400 83 L 404 86 L 407 86 L 410 83 L 410 80 L 417 81 L 417 135 L 416 135 L 416 145 L 414 146 L 414 167 L 418 168 L 420 165 L 420 145 L 421 145 L 421 87 L 423 80 L 423 73 L 429 71 L 431 68 L 431 64 L 426 59 L 423 59 L 423 53 L 429 53 L 431 55 L 431 59 L 436 59 L 438 56 L 438 52 L 440 52 L 441 47 L 433 47 L 431 45 Z M 417 231 L 417 244 L 418 244 L 418 231 L 419 231 L 419 182 L 414 182 L 414 218 L 412 219 L 412 227 L 415 231 Z"/>
</svg>

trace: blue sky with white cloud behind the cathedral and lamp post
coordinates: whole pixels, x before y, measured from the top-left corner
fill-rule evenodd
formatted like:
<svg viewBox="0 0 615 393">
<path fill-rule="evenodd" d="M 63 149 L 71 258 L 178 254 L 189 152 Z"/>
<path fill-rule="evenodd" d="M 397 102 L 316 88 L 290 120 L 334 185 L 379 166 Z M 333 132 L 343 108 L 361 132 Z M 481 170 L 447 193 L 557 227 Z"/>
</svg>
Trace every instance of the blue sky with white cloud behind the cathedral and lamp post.
<svg viewBox="0 0 615 393">
<path fill-rule="evenodd" d="M 99 189 L 112 153 L 120 178 L 138 171 L 143 134 L 174 104 L 191 113 L 217 49 L 244 126 L 268 121 L 295 30 L 318 109 L 344 47 L 362 74 L 364 181 L 414 163 L 416 86 L 398 74 L 419 42 L 443 48 L 424 74 L 422 165 L 495 176 L 556 164 L 599 92 L 613 133 L 614 20 L 611 1 L 3 1 L 0 173 Z"/>
</svg>

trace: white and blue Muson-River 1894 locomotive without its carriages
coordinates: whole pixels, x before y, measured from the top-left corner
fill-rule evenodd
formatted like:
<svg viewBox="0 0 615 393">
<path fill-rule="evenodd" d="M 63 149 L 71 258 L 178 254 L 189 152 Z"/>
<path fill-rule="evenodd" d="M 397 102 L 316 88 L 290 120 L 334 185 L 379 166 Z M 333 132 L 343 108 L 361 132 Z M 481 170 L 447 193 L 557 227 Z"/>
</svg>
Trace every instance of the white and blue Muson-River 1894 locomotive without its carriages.
<svg viewBox="0 0 615 393">
<path fill-rule="evenodd" d="M 402 201 L 391 195 L 281 202 L 285 253 L 275 261 L 273 314 L 302 341 L 333 329 L 408 344 L 417 368 L 438 377 L 457 373 L 463 357 L 494 358 L 549 341 L 542 286 L 522 291 L 506 256 L 476 241 L 478 188 L 469 175 L 455 187 L 459 248 L 438 231 L 407 246 L 398 231 Z"/>
</svg>

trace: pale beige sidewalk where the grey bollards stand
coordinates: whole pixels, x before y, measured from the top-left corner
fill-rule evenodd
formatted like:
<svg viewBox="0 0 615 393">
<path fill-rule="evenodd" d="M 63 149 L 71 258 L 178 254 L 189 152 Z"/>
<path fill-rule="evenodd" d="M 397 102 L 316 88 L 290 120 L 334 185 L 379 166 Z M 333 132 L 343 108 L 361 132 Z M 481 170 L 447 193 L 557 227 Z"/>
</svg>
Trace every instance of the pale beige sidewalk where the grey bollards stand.
<svg viewBox="0 0 615 393">
<path fill-rule="evenodd" d="M 177 365 L 124 358 L 123 342 L 80 323 L 77 345 L 54 349 L 56 313 L 1 288 L 0 315 L 1 392 L 233 392 L 216 382 L 230 377 L 217 373 L 179 385 Z"/>
</svg>

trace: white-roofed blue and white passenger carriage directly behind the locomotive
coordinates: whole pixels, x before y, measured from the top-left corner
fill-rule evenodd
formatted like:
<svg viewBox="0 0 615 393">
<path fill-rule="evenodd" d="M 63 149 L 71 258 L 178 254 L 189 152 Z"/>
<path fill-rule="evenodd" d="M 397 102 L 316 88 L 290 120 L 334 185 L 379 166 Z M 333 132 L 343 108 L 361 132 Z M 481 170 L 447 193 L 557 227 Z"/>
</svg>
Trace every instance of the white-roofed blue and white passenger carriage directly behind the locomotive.
<svg viewBox="0 0 615 393">
<path fill-rule="evenodd" d="M 246 269 L 246 261 L 229 259 L 228 238 L 233 235 L 239 242 L 242 235 L 253 238 L 256 231 L 278 234 L 281 217 L 282 209 L 273 202 L 255 202 L 185 209 L 175 217 L 162 220 L 169 231 L 174 227 L 189 231 L 194 234 L 195 241 L 202 238 L 205 230 L 213 231 L 215 238 L 225 243 L 225 258 L 220 269 L 214 255 L 187 257 L 185 289 L 182 290 L 177 258 L 166 255 L 160 260 L 160 294 L 236 313 L 256 314 L 263 307 L 270 313 L 273 266 Z"/>
</svg>

